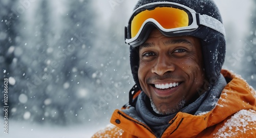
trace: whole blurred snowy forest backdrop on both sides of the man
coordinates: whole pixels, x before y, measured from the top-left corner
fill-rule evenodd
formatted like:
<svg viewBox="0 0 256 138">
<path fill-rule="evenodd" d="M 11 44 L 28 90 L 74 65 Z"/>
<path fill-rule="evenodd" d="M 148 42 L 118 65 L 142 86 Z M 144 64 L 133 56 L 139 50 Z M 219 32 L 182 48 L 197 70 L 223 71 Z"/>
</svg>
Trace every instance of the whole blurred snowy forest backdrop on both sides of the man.
<svg viewBox="0 0 256 138">
<path fill-rule="evenodd" d="M 108 125 L 134 85 L 123 30 L 136 2 L 0 0 L 0 137 L 90 137 Z M 215 2 L 224 67 L 256 87 L 256 2 Z"/>
</svg>

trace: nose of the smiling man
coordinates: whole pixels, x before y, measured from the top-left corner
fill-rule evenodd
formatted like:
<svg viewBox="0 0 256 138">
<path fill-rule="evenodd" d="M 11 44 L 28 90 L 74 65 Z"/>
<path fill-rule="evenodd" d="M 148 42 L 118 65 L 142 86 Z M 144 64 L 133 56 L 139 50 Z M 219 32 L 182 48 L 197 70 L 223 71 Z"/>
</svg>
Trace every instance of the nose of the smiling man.
<svg viewBox="0 0 256 138">
<path fill-rule="evenodd" d="M 173 72 L 175 70 L 175 64 L 168 55 L 159 55 L 155 65 L 152 67 L 152 73 L 159 76 L 164 75 L 167 72 Z"/>
</svg>

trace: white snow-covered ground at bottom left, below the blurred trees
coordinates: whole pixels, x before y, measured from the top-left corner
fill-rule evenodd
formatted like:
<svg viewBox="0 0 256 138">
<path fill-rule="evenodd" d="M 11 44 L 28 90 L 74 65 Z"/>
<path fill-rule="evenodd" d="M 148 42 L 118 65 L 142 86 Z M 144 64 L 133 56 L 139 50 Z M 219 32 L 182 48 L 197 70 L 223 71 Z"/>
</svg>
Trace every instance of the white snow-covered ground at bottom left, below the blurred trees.
<svg viewBox="0 0 256 138">
<path fill-rule="evenodd" d="M 9 133 L 5 134 L 3 120 L 0 120 L 0 126 L 2 128 L 0 131 L 1 138 L 87 138 L 105 127 L 104 125 L 97 126 L 93 124 L 59 127 L 26 122 L 9 122 Z"/>
</svg>

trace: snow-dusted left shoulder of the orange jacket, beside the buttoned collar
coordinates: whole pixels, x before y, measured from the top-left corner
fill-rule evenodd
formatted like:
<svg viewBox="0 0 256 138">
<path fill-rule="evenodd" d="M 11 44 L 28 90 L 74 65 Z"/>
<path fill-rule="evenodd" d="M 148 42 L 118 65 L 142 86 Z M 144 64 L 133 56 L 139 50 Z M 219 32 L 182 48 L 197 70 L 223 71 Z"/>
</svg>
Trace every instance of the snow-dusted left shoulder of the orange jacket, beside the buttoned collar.
<svg viewBox="0 0 256 138">
<path fill-rule="evenodd" d="M 114 126 L 114 125 L 108 125 L 103 130 L 100 130 L 96 132 L 92 138 L 96 137 L 122 137 L 123 130 Z"/>
</svg>

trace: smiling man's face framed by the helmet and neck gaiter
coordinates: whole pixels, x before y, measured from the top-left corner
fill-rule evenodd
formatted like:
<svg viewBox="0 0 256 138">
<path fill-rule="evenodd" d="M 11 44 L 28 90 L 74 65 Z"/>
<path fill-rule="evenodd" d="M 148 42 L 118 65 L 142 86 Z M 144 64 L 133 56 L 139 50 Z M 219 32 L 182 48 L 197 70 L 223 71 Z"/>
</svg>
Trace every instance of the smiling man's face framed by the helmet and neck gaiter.
<svg viewBox="0 0 256 138">
<path fill-rule="evenodd" d="M 198 96 L 205 77 L 198 38 L 154 30 L 139 46 L 139 57 L 139 82 L 155 112 L 175 113 Z"/>
</svg>

